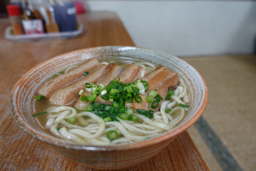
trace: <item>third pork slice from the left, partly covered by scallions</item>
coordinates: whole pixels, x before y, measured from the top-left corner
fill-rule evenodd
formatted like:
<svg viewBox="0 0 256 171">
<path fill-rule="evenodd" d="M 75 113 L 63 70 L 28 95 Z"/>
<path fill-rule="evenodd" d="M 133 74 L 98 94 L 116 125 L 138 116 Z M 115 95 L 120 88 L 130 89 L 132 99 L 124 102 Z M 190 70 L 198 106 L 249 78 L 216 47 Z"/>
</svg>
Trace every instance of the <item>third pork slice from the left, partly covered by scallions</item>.
<svg viewBox="0 0 256 171">
<path fill-rule="evenodd" d="M 104 84 L 106 86 L 111 80 L 116 78 L 116 76 L 119 75 L 119 73 L 122 70 L 123 70 L 122 67 L 120 67 L 120 66 L 118 66 L 116 64 L 108 64 L 106 66 L 106 68 L 104 69 L 103 73 L 101 74 L 101 76 L 99 77 L 98 81 L 96 81 L 96 84 L 97 83 L 102 83 L 102 84 Z M 84 91 L 82 92 L 81 96 L 82 95 L 86 95 L 88 97 L 88 96 L 90 96 L 90 93 L 88 93 L 88 91 L 86 91 L 84 89 Z M 100 98 L 98 100 L 101 100 L 101 99 L 104 100 L 103 98 L 101 98 L 101 94 L 99 94 L 99 95 L 100 95 Z M 76 109 L 78 109 L 78 110 L 86 109 L 88 104 L 89 104 L 88 100 L 81 101 L 81 96 L 79 97 L 79 99 L 74 104 L 74 107 Z M 105 102 L 105 100 L 104 100 L 104 102 Z"/>
</svg>

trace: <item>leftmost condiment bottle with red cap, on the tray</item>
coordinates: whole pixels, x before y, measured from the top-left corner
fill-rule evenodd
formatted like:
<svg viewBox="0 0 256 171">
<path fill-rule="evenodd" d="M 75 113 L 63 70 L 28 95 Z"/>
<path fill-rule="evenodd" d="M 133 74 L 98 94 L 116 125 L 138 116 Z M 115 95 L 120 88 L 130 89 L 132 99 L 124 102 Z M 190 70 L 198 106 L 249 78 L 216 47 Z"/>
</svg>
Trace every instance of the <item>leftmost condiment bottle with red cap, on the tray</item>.
<svg viewBox="0 0 256 171">
<path fill-rule="evenodd" d="M 15 34 L 24 34 L 18 5 L 7 5 L 7 12 Z"/>
</svg>

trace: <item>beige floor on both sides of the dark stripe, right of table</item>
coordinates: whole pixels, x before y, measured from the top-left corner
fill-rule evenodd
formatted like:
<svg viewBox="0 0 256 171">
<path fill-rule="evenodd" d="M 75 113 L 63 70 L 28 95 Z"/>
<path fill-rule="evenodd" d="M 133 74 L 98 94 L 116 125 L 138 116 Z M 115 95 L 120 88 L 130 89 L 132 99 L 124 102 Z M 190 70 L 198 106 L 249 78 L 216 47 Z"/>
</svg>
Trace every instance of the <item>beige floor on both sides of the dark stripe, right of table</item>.
<svg viewBox="0 0 256 171">
<path fill-rule="evenodd" d="M 203 116 L 243 170 L 256 170 L 256 56 L 182 58 L 203 76 L 209 99 Z M 211 170 L 221 170 L 203 139 L 188 129 Z"/>
</svg>

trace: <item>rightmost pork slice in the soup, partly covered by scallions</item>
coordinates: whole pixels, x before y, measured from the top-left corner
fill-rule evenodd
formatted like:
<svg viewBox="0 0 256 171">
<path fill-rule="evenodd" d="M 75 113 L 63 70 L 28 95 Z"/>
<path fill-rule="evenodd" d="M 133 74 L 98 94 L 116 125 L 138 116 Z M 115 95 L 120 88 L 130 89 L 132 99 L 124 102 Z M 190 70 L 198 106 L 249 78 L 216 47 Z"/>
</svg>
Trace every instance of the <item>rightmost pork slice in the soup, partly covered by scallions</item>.
<svg viewBox="0 0 256 171">
<path fill-rule="evenodd" d="M 176 73 L 170 72 L 166 67 L 158 66 L 141 80 L 145 80 L 148 82 L 148 89 L 146 91 L 146 95 L 140 95 L 142 97 L 142 102 L 140 103 L 136 103 L 134 99 L 131 103 L 126 101 L 126 107 L 130 107 L 132 109 L 152 109 L 151 103 L 148 103 L 145 100 L 147 93 L 151 90 L 158 89 L 157 94 L 160 94 L 162 98 L 165 99 L 168 88 L 177 86 L 179 78 Z M 158 106 L 152 110 L 157 111 L 161 105 L 161 102 L 162 100 L 159 102 Z"/>
</svg>

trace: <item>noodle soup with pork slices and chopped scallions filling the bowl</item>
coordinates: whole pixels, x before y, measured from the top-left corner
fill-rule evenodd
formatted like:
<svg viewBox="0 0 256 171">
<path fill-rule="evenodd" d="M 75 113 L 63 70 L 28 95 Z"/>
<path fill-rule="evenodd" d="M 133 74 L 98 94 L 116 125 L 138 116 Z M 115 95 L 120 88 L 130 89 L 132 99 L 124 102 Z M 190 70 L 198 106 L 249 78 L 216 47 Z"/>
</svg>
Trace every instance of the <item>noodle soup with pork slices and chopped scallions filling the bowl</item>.
<svg viewBox="0 0 256 171">
<path fill-rule="evenodd" d="M 188 102 L 184 81 L 166 67 L 92 58 L 51 75 L 36 92 L 33 116 L 53 136 L 113 145 L 172 129 Z"/>
</svg>

